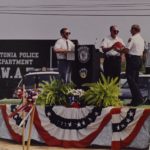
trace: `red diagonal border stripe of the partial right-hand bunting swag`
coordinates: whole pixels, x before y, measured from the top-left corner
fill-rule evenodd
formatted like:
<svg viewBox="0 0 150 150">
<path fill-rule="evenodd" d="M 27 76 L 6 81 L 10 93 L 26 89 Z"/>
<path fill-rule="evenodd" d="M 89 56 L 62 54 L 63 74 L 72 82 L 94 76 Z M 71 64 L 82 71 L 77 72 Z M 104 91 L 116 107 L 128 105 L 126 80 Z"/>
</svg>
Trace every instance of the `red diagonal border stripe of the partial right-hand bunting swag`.
<svg viewBox="0 0 150 150">
<path fill-rule="evenodd" d="M 145 120 L 147 119 L 148 116 L 150 116 L 150 109 L 145 109 L 144 112 L 143 112 L 143 115 L 138 120 L 138 122 L 137 122 L 135 128 L 133 129 L 132 133 L 126 139 L 121 141 L 121 147 L 128 146 L 134 140 L 134 138 L 139 133 L 141 127 L 143 126 L 143 124 L 144 124 L 144 122 L 145 122 Z"/>
</svg>

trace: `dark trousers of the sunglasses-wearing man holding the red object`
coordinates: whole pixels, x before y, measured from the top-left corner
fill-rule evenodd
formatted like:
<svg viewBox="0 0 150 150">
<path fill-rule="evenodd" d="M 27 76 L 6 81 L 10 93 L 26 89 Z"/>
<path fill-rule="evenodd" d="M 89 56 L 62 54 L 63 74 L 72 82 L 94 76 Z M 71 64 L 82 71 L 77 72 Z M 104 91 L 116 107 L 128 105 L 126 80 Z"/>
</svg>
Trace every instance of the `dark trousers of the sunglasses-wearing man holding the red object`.
<svg viewBox="0 0 150 150">
<path fill-rule="evenodd" d="M 103 65 L 105 77 L 109 77 L 110 79 L 118 77 L 119 82 L 121 73 L 121 57 L 105 56 Z"/>
</svg>

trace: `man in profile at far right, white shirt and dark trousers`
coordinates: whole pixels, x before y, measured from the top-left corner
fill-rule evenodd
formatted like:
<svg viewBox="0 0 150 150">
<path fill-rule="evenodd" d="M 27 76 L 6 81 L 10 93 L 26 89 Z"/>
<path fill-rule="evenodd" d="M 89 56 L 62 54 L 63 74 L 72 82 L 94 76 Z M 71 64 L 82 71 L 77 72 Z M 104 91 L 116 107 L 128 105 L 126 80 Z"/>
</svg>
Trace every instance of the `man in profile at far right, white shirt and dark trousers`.
<svg viewBox="0 0 150 150">
<path fill-rule="evenodd" d="M 142 66 L 145 46 L 140 31 L 139 25 L 132 25 L 130 29 L 132 37 L 129 38 L 126 48 L 120 50 L 120 52 L 126 53 L 126 76 L 132 94 L 131 106 L 138 106 L 147 101 L 142 97 L 138 86 L 139 71 Z"/>
</svg>

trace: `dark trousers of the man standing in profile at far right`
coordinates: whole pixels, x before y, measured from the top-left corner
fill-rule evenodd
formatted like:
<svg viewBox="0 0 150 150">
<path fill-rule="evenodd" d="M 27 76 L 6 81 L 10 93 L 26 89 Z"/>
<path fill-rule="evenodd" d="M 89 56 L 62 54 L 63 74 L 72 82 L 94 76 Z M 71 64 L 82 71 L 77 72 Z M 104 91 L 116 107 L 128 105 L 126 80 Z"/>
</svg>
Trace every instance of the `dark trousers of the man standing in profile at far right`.
<svg viewBox="0 0 150 150">
<path fill-rule="evenodd" d="M 139 105 L 143 101 L 142 94 L 138 86 L 139 71 L 142 66 L 140 56 L 126 55 L 126 76 L 132 94 L 132 104 Z"/>
</svg>

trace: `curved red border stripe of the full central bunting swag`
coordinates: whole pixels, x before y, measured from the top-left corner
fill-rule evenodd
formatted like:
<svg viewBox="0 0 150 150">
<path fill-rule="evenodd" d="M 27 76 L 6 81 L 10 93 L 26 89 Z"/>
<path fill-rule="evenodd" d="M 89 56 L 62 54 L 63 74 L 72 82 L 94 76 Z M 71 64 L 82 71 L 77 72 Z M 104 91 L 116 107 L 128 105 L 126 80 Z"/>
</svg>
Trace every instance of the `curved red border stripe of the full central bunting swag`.
<svg viewBox="0 0 150 150">
<path fill-rule="evenodd" d="M 90 146 L 90 143 L 96 138 L 96 136 L 102 131 L 102 129 L 106 126 L 106 124 L 111 119 L 111 112 L 108 113 L 104 118 L 101 124 L 99 125 L 98 129 L 95 130 L 93 133 L 89 134 L 83 140 L 80 141 L 65 141 L 65 140 L 58 140 L 57 138 L 51 136 L 41 125 L 41 121 L 38 116 L 37 109 L 35 111 L 35 120 L 34 125 L 39 132 L 39 135 L 45 140 L 46 144 L 49 146 L 63 146 L 63 147 L 87 147 Z"/>
</svg>

